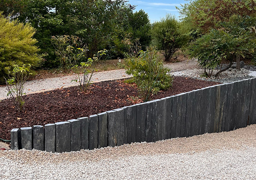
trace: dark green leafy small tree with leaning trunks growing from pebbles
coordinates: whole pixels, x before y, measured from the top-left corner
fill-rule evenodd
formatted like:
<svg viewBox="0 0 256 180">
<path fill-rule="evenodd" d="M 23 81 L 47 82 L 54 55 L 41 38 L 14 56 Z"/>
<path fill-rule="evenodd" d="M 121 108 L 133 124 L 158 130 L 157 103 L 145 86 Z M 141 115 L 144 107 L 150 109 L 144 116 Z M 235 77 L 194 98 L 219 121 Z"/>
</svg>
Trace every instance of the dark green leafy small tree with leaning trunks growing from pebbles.
<svg viewBox="0 0 256 180">
<path fill-rule="evenodd" d="M 240 69 L 240 56 L 252 55 L 256 49 L 256 18 L 235 15 L 222 26 L 222 29 L 213 29 L 190 45 L 190 55 L 198 58 L 207 76 L 212 75 L 214 68 L 222 66 L 224 60 L 229 60 L 230 66 L 233 61 L 237 61 L 237 69 Z M 215 76 L 222 71 L 217 72 Z"/>
</svg>

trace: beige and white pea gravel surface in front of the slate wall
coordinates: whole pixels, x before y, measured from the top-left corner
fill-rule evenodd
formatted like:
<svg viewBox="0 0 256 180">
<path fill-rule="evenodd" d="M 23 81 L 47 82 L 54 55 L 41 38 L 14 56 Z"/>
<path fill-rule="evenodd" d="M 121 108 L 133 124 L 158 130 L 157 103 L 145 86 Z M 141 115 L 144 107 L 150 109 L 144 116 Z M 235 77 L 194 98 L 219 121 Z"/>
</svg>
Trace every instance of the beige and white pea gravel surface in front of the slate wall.
<svg viewBox="0 0 256 180">
<path fill-rule="evenodd" d="M 6 150 L 0 162 L 1 179 L 256 179 L 256 125 L 69 153 Z"/>
</svg>

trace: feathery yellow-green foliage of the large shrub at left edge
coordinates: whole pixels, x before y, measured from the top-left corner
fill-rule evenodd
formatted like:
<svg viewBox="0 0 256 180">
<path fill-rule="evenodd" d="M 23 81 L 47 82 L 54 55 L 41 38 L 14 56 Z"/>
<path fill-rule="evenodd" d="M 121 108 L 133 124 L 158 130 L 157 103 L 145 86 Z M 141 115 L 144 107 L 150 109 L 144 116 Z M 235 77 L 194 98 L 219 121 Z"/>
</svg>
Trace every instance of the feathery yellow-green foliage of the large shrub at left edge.
<svg viewBox="0 0 256 180">
<path fill-rule="evenodd" d="M 10 22 L 0 13 L 0 83 L 4 82 L 14 65 L 39 65 L 41 58 L 37 55 L 39 49 L 33 39 L 34 28 L 17 21 Z"/>
</svg>

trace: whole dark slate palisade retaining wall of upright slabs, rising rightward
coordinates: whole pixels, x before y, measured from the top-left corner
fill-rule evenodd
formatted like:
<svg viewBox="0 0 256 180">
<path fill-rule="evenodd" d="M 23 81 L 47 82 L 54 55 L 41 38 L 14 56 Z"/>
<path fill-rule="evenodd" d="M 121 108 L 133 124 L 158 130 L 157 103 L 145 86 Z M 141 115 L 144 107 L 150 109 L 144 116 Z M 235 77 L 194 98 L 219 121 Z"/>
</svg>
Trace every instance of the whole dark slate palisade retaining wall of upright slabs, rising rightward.
<svg viewBox="0 0 256 180">
<path fill-rule="evenodd" d="M 256 78 L 210 86 L 89 118 L 11 131 L 11 149 L 69 152 L 231 131 L 256 123 Z"/>
</svg>

